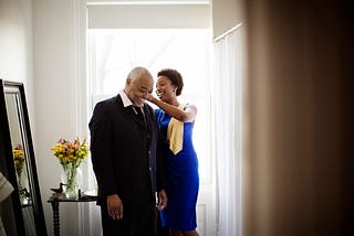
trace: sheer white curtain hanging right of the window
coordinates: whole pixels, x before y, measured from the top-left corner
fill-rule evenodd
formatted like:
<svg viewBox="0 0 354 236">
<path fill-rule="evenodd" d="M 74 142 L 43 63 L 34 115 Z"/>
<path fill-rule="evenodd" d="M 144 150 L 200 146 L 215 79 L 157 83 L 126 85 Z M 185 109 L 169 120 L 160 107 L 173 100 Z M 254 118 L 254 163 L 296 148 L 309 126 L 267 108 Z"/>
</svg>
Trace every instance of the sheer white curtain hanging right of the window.
<svg viewBox="0 0 354 236">
<path fill-rule="evenodd" d="M 215 41 L 215 142 L 218 235 L 242 235 L 242 26 Z"/>
</svg>

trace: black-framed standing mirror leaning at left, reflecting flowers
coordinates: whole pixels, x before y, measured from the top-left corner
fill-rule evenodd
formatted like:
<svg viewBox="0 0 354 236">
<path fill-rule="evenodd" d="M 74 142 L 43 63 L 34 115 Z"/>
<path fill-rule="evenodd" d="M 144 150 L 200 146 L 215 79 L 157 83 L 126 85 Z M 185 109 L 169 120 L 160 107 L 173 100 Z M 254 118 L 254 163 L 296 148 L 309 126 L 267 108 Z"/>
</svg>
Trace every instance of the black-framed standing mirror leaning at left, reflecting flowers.
<svg viewBox="0 0 354 236">
<path fill-rule="evenodd" d="M 0 171 L 12 184 L 0 214 L 8 235 L 46 235 L 22 83 L 0 79 Z"/>
</svg>

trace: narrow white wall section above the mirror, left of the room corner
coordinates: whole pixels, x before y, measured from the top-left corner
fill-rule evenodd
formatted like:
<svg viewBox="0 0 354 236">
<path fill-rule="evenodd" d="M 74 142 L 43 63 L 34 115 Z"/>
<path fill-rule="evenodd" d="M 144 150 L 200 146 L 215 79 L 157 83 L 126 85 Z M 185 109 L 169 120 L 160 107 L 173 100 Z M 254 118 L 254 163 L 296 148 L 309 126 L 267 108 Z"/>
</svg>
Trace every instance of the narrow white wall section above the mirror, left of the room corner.
<svg viewBox="0 0 354 236">
<path fill-rule="evenodd" d="M 0 0 L 0 78 L 24 84 L 34 132 L 31 0 Z"/>
</svg>

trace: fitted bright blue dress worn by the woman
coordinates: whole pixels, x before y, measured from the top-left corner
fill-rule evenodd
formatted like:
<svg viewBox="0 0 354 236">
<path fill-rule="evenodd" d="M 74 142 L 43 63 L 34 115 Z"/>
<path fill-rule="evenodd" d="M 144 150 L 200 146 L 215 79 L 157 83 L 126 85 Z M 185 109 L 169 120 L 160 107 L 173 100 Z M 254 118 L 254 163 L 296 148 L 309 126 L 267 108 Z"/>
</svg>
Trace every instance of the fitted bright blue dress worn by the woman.
<svg viewBox="0 0 354 236">
<path fill-rule="evenodd" d="M 157 120 L 164 137 L 170 116 L 156 110 Z M 177 230 L 194 230 L 197 227 L 196 204 L 199 192 L 198 159 L 192 144 L 194 122 L 184 124 L 183 150 L 176 155 L 164 143 L 166 158 L 167 207 L 160 211 L 164 227 Z M 166 138 L 165 138 L 166 140 Z"/>
</svg>

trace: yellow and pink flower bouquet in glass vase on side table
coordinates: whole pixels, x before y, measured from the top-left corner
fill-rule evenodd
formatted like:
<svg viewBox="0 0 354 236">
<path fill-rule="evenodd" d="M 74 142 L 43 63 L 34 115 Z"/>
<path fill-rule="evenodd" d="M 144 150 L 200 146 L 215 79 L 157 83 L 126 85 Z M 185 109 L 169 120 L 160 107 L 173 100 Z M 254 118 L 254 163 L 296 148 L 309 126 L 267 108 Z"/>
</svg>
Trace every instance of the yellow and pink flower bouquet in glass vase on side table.
<svg viewBox="0 0 354 236">
<path fill-rule="evenodd" d="M 75 197 L 77 193 L 77 169 L 90 154 L 90 147 L 86 139 L 81 142 L 79 138 L 74 141 L 61 138 L 51 150 L 64 169 L 66 175 L 66 195 L 69 197 Z"/>
</svg>

